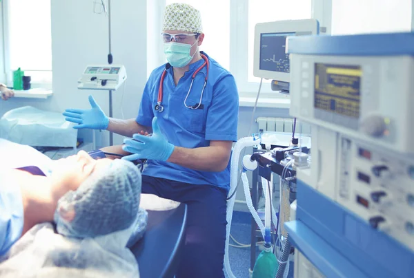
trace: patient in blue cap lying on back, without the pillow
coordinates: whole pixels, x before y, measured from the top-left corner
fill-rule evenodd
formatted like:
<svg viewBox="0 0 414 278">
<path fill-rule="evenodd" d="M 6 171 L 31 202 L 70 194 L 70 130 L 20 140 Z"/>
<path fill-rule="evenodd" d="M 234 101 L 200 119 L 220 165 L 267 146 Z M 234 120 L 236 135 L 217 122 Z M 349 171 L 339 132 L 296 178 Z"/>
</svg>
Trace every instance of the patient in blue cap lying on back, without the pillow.
<svg viewBox="0 0 414 278">
<path fill-rule="evenodd" d="M 1 146 L 5 145 L 8 149 L 19 147 L 0 140 L 2 154 Z M 28 156 L 28 150 L 24 152 Z M 44 175 L 39 168 L 4 169 L 6 164 L 0 163 L 0 256 L 42 222 L 55 219 L 57 231 L 72 237 L 104 235 L 135 222 L 141 175 L 131 162 L 94 160 L 85 151 L 50 160 L 48 167 L 44 161 L 39 167 Z M 98 212 L 101 217 L 97 217 Z"/>
</svg>

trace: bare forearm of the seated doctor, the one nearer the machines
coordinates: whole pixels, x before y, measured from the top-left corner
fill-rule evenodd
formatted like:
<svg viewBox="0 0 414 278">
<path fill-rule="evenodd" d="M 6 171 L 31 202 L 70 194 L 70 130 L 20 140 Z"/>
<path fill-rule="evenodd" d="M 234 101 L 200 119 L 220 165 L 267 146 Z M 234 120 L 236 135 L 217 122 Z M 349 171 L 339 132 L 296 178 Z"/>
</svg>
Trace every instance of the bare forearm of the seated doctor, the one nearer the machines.
<svg viewBox="0 0 414 278">
<path fill-rule="evenodd" d="M 208 147 L 174 147 L 167 161 L 194 170 L 219 172 L 228 165 L 232 145 L 232 141 L 211 140 Z"/>
</svg>

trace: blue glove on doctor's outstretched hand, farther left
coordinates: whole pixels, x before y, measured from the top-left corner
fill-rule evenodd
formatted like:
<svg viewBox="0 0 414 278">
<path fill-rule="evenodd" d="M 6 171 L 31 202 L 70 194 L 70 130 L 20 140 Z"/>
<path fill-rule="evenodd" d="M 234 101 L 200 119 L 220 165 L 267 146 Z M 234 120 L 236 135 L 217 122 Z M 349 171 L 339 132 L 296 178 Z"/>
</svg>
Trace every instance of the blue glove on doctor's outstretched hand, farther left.
<svg viewBox="0 0 414 278">
<path fill-rule="evenodd" d="M 75 122 L 74 129 L 107 129 L 109 118 L 103 113 L 101 107 L 97 105 L 93 96 L 89 96 L 91 109 L 66 109 L 63 116 L 68 122 Z"/>
</svg>

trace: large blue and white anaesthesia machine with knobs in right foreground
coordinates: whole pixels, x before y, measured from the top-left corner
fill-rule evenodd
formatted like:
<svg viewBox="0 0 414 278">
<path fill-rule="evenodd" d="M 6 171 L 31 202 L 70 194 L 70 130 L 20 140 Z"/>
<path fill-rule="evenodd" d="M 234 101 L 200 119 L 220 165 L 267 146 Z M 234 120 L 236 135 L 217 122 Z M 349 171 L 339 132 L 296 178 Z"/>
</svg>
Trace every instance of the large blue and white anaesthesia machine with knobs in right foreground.
<svg viewBox="0 0 414 278">
<path fill-rule="evenodd" d="M 414 33 L 291 37 L 288 54 L 313 140 L 285 224 L 295 277 L 414 277 Z"/>
</svg>

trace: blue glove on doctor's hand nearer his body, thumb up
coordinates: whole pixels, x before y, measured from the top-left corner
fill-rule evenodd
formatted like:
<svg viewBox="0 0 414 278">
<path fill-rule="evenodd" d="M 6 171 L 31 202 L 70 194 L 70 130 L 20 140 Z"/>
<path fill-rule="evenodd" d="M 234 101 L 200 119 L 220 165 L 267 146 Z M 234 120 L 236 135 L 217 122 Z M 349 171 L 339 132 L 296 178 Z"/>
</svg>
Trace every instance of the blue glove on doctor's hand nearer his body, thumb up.
<svg viewBox="0 0 414 278">
<path fill-rule="evenodd" d="M 133 154 L 124 156 L 122 159 L 137 160 L 146 158 L 166 161 L 174 151 L 174 145 L 169 143 L 159 130 L 157 117 L 152 118 L 152 136 L 135 133 L 132 138 L 134 139 L 124 140 L 125 145 L 122 146 L 122 149 Z"/>
</svg>

